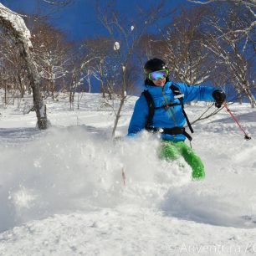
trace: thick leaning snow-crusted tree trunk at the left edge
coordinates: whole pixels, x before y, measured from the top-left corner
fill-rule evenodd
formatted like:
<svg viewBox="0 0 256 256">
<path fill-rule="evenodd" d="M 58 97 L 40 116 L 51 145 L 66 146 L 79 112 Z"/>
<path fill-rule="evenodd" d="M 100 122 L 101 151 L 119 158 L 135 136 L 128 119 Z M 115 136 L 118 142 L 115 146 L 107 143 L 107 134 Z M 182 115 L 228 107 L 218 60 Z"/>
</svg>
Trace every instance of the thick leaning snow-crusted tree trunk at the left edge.
<svg viewBox="0 0 256 256">
<path fill-rule="evenodd" d="M 38 118 L 38 128 L 46 129 L 48 125 L 46 105 L 44 105 L 40 92 L 40 79 L 36 64 L 33 60 L 33 46 L 30 40 L 30 32 L 26 27 L 23 18 L 3 6 L 2 3 L 0 3 L 0 23 L 8 36 L 13 38 L 20 50 L 20 54 L 23 57 L 28 72 L 28 79 L 33 90 L 33 105 Z"/>
</svg>

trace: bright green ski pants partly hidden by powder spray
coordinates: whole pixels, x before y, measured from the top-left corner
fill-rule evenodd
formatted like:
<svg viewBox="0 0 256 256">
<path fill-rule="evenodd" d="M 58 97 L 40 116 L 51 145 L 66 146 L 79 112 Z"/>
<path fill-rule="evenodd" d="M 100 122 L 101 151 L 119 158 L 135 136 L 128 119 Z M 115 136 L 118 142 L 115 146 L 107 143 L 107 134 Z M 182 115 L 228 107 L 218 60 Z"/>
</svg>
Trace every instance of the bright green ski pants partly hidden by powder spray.
<svg viewBox="0 0 256 256">
<path fill-rule="evenodd" d="M 184 141 L 162 141 L 159 156 L 166 160 L 176 160 L 182 156 L 187 164 L 192 167 L 193 179 L 203 179 L 205 177 L 202 160 Z"/>
</svg>

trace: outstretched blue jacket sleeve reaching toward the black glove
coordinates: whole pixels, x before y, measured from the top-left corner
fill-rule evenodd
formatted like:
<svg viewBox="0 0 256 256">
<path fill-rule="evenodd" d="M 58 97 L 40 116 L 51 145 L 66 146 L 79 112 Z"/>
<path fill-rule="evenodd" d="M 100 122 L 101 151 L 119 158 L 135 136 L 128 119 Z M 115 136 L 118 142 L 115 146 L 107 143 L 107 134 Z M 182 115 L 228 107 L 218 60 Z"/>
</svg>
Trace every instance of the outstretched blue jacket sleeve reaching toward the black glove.
<svg viewBox="0 0 256 256">
<path fill-rule="evenodd" d="M 192 100 L 198 101 L 214 101 L 212 93 L 214 90 L 218 90 L 216 87 L 209 86 L 189 86 L 187 84 L 177 84 L 179 89 L 184 94 L 184 103 Z"/>
</svg>

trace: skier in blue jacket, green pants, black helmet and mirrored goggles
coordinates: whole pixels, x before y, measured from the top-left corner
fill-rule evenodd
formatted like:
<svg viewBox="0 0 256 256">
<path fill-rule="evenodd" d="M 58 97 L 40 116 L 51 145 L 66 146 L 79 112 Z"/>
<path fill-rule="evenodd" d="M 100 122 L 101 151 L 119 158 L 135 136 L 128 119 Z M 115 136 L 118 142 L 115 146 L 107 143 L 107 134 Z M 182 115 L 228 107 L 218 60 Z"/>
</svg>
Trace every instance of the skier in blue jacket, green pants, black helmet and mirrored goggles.
<svg viewBox="0 0 256 256">
<path fill-rule="evenodd" d="M 184 142 L 192 137 L 183 127 L 192 127 L 187 119 L 183 105 L 192 100 L 215 101 L 220 108 L 226 99 L 222 90 L 206 86 L 189 86 L 173 83 L 169 79 L 169 69 L 161 59 L 150 59 L 144 66 L 145 89 L 136 101 L 127 136 L 136 136 L 146 130 L 161 134 L 159 156 L 167 160 L 175 160 L 182 156 L 192 167 L 192 178 L 205 177 L 202 160 Z M 193 131 L 192 131 L 193 132 Z"/>
</svg>

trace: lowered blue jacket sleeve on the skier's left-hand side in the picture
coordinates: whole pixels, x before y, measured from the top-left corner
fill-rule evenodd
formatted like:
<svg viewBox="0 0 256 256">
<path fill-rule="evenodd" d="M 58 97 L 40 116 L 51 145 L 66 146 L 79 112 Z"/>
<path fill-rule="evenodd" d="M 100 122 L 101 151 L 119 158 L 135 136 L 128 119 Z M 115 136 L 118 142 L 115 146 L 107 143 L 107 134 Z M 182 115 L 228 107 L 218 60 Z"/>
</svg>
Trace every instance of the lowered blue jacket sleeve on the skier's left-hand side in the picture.
<svg viewBox="0 0 256 256">
<path fill-rule="evenodd" d="M 136 136 L 136 133 L 145 128 L 147 115 L 148 105 L 146 98 L 141 95 L 140 99 L 136 101 L 127 136 Z"/>
</svg>

